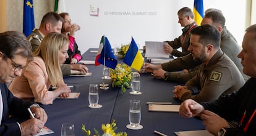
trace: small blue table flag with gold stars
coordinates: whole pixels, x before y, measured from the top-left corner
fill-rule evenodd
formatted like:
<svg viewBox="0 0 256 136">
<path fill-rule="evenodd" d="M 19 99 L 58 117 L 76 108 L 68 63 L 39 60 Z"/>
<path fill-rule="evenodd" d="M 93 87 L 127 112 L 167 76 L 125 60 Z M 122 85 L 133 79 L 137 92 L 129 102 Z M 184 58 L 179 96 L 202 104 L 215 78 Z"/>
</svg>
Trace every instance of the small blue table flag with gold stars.
<svg viewBox="0 0 256 136">
<path fill-rule="evenodd" d="M 109 68 L 112 68 L 114 70 L 116 69 L 117 60 L 106 36 L 103 43 L 103 49 L 101 50 L 101 54 L 97 62 L 101 63 L 102 65 L 104 65 L 105 63 L 105 66 L 108 66 Z"/>
</svg>

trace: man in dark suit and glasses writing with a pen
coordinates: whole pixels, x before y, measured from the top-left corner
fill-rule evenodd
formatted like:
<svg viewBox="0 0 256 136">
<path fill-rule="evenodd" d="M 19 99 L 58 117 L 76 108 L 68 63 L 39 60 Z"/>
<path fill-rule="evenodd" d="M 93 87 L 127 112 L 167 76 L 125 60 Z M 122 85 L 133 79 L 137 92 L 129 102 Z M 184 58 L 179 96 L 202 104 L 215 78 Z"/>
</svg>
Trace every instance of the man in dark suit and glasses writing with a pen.
<svg viewBox="0 0 256 136">
<path fill-rule="evenodd" d="M 14 97 L 6 86 L 20 76 L 27 61 L 32 58 L 30 42 L 17 31 L 0 33 L 0 135 L 35 135 L 45 126 L 47 114 L 39 105 Z M 32 111 L 32 115 L 28 112 Z M 9 123 L 9 116 L 31 118 Z"/>
</svg>

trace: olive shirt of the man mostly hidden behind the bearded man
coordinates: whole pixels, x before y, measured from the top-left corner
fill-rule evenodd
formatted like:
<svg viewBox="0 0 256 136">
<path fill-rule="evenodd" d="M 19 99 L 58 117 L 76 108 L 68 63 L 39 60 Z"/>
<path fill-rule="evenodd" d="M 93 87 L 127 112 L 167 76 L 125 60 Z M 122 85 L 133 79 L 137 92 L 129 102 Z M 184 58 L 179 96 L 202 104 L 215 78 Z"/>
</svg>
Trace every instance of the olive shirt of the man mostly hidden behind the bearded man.
<svg viewBox="0 0 256 136">
<path fill-rule="evenodd" d="M 241 64 L 241 58 L 238 58 L 237 55 L 241 52 L 241 47 L 237 44 L 234 36 L 226 30 L 226 27 L 223 28 L 221 32 L 221 50 L 224 54 L 236 64 L 237 68 L 241 72 L 244 80 L 247 81 L 249 78 L 246 74 L 243 73 L 243 66 Z M 180 72 L 171 72 L 171 71 L 181 71 L 183 69 L 192 69 L 195 66 L 200 65 L 201 62 L 196 62 L 193 60 L 192 54 L 186 55 L 184 57 L 176 58 L 173 61 L 168 63 L 163 63 L 161 66 L 163 70 L 169 71 L 169 80 L 177 82 L 186 82 L 189 79 L 193 78 L 197 74 L 196 70 L 190 70 L 189 73 L 180 73 Z"/>
</svg>

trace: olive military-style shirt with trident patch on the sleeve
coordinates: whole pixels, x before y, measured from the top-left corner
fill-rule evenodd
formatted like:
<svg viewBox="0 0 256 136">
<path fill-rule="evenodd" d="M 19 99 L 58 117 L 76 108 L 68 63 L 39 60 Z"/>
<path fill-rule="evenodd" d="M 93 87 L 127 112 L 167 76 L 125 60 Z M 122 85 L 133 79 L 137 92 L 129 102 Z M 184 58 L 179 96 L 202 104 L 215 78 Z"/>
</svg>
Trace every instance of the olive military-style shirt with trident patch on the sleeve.
<svg viewBox="0 0 256 136">
<path fill-rule="evenodd" d="M 234 62 L 219 49 L 210 62 L 207 65 L 203 64 L 197 75 L 187 81 L 185 86 L 191 93 L 184 93 L 181 100 L 216 100 L 222 95 L 239 90 L 244 83 L 244 78 Z"/>
</svg>

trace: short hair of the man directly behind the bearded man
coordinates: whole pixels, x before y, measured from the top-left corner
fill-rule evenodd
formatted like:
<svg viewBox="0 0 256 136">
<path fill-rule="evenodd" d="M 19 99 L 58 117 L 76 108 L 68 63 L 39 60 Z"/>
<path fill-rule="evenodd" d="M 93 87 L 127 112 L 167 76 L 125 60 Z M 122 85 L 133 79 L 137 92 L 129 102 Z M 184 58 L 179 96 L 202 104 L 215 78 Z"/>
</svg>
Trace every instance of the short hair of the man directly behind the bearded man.
<svg viewBox="0 0 256 136">
<path fill-rule="evenodd" d="M 217 11 L 208 12 L 207 14 L 205 14 L 205 18 L 211 18 L 211 20 L 213 20 L 213 24 L 218 23 L 221 25 L 222 28 L 224 28 L 226 23 L 226 19 L 223 14 Z"/>
</svg>

